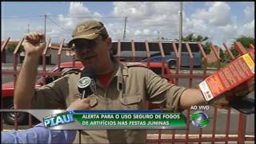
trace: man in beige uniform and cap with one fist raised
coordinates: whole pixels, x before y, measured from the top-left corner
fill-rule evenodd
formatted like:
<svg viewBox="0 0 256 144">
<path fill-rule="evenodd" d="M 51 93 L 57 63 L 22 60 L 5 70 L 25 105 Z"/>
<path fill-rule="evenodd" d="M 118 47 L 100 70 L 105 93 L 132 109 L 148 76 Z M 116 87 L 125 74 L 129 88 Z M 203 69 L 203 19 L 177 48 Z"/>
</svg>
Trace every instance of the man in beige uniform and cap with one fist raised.
<svg viewBox="0 0 256 144">
<path fill-rule="evenodd" d="M 110 55 L 112 42 L 102 22 L 82 22 L 72 37 L 69 46 L 77 58 L 97 74 L 97 90 L 88 97 L 90 110 L 145 110 L 146 101 L 150 101 L 177 112 L 205 103 L 198 89 L 174 86 L 138 63 L 118 62 Z M 34 90 L 38 60 L 46 46 L 40 42 L 43 39 L 43 34 L 37 32 L 26 34 L 26 57 L 14 91 L 16 109 L 66 108 L 81 97 L 77 86 L 81 73 L 75 72 Z M 146 130 L 82 130 L 82 143 L 145 142 Z"/>
</svg>

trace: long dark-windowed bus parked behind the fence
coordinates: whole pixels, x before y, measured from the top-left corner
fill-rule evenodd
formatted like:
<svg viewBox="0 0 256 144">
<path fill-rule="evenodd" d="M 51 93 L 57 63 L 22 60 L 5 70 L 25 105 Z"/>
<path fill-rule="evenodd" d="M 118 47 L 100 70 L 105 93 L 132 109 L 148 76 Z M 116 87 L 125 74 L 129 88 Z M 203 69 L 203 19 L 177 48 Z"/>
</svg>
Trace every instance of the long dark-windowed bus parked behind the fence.
<svg viewBox="0 0 256 144">
<path fill-rule="evenodd" d="M 188 42 L 190 50 L 193 55 L 193 66 L 200 67 L 202 63 L 202 54 L 198 48 L 197 42 Z M 133 57 L 132 43 L 129 41 L 121 41 L 121 60 L 122 61 L 140 61 L 147 62 L 146 58 L 146 44 L 142 41 L 134 41 L 135 57 Z M 162 56 L 159 49 L 158 41 L 149 41 L 150 49 L 150 62 L 162 62 Z M 175 42 L 176 48 L 178 49 L 178 42 Z M 176 67 L 176 54 L 174 53 L 174 48 L 172 41 L 162 41 L 162 49 L 165 54 L 165 62 L 170 66 L 170 68 Z M 114 41 L 112 45 L 112 53 L 116 56 L 118 53 L 118 42 Z M 181 66 L 190 66 L 190 55 L 186 50 L 186 45 L 182 42 L 182 55 L 181 55 Z"/>
</svg>

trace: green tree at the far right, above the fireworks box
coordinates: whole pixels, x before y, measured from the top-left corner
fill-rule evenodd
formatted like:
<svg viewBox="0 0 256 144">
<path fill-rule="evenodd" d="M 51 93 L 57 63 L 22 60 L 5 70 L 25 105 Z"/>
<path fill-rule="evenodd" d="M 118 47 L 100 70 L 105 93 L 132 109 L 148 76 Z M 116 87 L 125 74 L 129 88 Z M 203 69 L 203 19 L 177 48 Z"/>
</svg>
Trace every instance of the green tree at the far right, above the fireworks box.
<svg viewBox="0 0 256 144">
<path fill-rule="evenodd" d="M 255 44 L 255 39 L 251 38 L 251 37 L 246 37 L 244 35 L 240 36 L 239 38 L 235 39 L 236 42 L 241 42 L 242 46 L 244 46 L 246 48 L 246 50 L 248 50 L 248 48 L 250 47 L 250 44 Z M 238 51 L 234 49 L 234 44 L 230 47 L 230 51 L 232 52 L 232 54 L 234 54 L 234 57 L 238 57 L 240 54 L 238 54 Z"/>
</svg>

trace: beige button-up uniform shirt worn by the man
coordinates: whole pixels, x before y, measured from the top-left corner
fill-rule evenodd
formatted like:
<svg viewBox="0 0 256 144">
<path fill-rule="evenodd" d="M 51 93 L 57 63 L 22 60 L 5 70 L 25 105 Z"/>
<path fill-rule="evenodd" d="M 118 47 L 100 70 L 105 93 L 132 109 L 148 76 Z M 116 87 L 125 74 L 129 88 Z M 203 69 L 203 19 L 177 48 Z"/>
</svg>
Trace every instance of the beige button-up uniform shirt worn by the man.
<svg viewBox="0 0 256 144">
<path fill-rule="evenodd" d="M 166 104 L 178 111 L 185 87 L 171 85 L 165 78 L 138 64 L 121 64 L 114 59 L 115 73 L 106 90 L 96 80 L 96 93 L 90 95 L 90 110 L 145 110 L 146 101 Z M 36 90 L 34 109 L 58 109 L 70 106 L 78 92 L 80 73 L 66 74 Z M 78 136 L 74 143 L 78 143 Z M 145 143 L 146 130 L 82 130 L 82 143 Z"/>
</svg>

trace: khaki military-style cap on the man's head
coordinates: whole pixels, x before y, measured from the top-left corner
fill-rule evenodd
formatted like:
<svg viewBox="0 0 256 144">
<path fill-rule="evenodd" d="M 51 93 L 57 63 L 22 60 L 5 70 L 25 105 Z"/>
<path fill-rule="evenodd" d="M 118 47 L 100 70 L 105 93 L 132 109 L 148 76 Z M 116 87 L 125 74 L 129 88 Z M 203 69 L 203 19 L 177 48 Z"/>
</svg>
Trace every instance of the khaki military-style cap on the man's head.
<svg viewBox="0 0 256 144">
<path fill-rule="evenodd" d="M 105 26 L 102 22 L 96 20 L 89 20 L 79 23 L 73 31 L 72 38 L 68 44 L 69 47 L 73 45 L 76 39 L 94 39 L 99 35 L 108 36 Z"/>
</svg>

